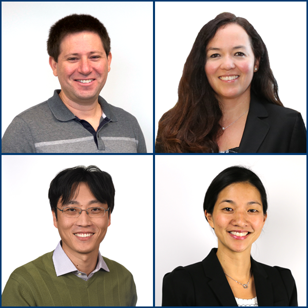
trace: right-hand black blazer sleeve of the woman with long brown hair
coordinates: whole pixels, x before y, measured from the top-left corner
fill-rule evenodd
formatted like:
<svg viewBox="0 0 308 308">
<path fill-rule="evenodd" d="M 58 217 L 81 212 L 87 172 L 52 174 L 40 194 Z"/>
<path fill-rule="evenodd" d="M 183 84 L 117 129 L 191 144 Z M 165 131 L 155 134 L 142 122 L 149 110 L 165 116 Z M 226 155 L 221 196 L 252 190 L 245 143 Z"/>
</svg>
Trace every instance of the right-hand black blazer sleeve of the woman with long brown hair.
<svg viewBox="0 0 308 308">
<path fill-rule="evenodd" d="M 306 153 L 306 128 L 300 113 L 297 114 L 293 127 L 289 153 Z"/>
</svg>

